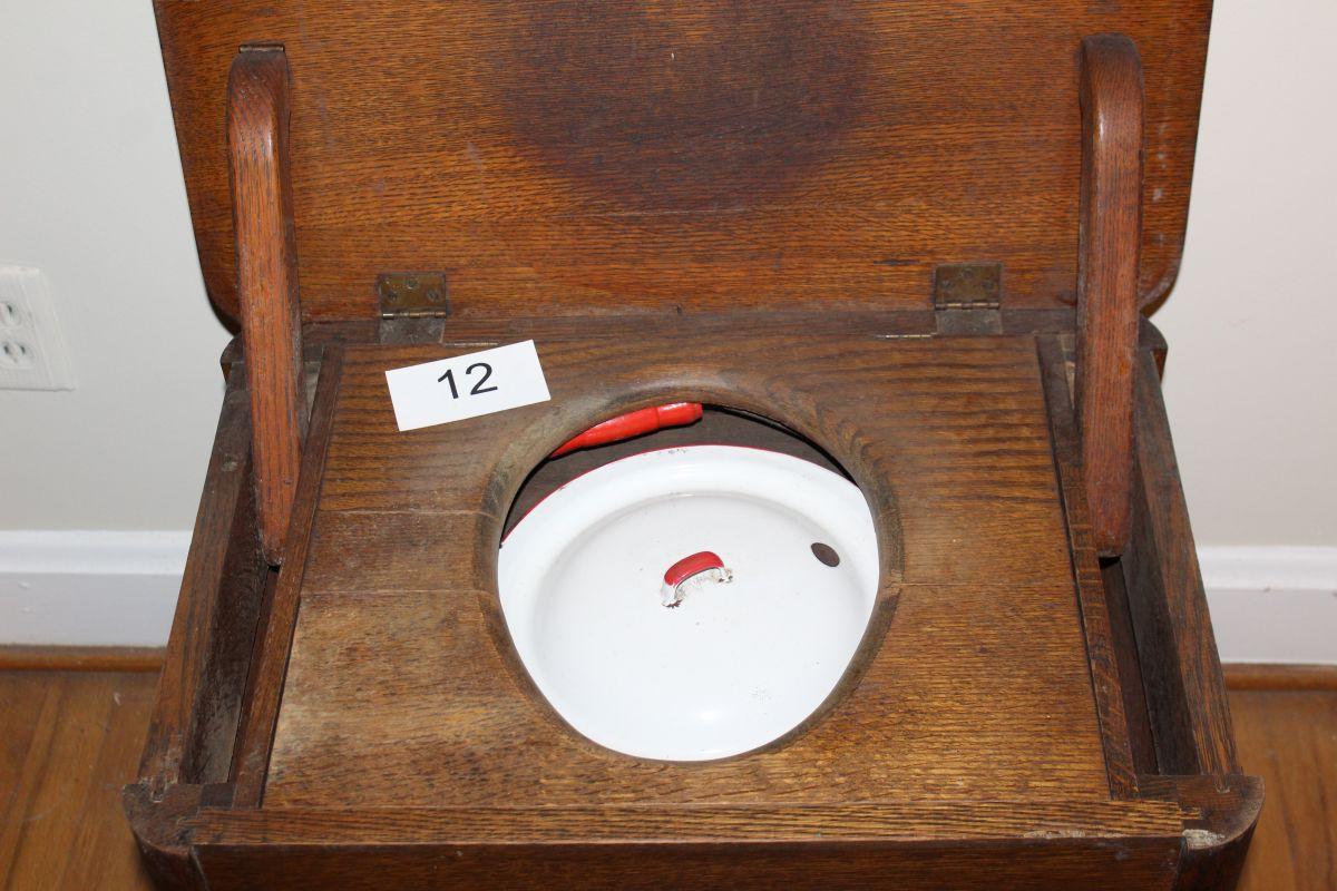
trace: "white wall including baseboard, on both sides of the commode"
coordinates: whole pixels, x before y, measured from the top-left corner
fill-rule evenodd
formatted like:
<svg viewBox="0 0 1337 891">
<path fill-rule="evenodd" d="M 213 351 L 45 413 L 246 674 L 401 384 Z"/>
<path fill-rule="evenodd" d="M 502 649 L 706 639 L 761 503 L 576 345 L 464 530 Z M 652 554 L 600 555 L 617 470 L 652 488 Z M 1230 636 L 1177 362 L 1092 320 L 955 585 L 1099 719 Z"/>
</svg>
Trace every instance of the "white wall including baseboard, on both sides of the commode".
<svg viewBox="0 0 1337 891">
<path fill-rule="evenodd" d="M 0 391 L 0 640 L 160 643 L 227 335 L 151 5 L 0 0 L 0 260 L 47 271 L 79 385 Z M 1333 0 L 1218 0 L 1189 246 L 1155 317 L 1231 659 L 1337 661 L 1318 633 L 1337 604 L 1334 36 Z"/>
</svg>

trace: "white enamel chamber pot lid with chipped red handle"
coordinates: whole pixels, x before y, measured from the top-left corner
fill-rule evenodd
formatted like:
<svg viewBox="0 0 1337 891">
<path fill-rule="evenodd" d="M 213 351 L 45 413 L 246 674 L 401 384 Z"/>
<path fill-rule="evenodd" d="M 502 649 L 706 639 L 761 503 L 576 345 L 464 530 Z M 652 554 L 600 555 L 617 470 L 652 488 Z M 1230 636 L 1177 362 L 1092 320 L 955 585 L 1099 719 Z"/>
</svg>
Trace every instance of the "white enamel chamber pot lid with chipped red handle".
<svg viewBox="0 0 1337 891">
<path fill-rule="evenodd" d="M 511 530 L 497 570 L 516 652 L 554 709 L 600 745 L 674 761 L 755 749 L 812 715 L 864 636 L 877 577 L 853 484 L 715 445 L 578 477 Z"/>
</svg>

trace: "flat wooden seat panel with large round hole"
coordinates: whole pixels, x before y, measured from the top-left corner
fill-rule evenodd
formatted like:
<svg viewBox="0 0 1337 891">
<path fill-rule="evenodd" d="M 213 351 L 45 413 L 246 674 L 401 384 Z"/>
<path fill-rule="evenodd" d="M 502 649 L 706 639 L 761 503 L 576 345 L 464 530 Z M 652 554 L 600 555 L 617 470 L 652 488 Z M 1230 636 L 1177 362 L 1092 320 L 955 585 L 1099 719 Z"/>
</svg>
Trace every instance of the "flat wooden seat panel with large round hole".
<svg viewBox="0 0 1337 891">
<path fill-rule="evenodd" d="M 541 330 L 551 403 L 406 434 L 384 370 L 476 346 L 348 350 L 266 808 L 558 804 L 590 788 L 610 801 L 1108 796 L 1032 338 L 711 339 L 685 323 L 698 345 L 685 357 L 677 341 Z M 898 598 L 846 699 L 787 745 L 707 765 L 636 763 L 564 729 L 527 689 L 496 606 L 500 525 L 532 464 L 668 395 L 763 409 L 833 456 L 878 517 L 881 602 Z"/>
</svg>

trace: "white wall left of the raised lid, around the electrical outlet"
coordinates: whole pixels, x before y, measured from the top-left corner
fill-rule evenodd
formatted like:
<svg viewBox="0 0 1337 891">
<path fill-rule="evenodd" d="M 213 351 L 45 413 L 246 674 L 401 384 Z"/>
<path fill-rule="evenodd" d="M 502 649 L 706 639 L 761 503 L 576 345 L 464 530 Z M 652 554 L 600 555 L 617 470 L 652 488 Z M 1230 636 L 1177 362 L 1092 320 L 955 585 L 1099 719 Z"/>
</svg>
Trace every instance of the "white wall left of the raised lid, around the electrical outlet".
<svg viewBox="0 0 1337 891">
<path fill-rule="evenodd" d="M 0 0 L 0 259 L 78 389 L 0 390 L 0 529 L 186 529 L 227 334 L 205 298 L 148 0 Z"/>
</svg>

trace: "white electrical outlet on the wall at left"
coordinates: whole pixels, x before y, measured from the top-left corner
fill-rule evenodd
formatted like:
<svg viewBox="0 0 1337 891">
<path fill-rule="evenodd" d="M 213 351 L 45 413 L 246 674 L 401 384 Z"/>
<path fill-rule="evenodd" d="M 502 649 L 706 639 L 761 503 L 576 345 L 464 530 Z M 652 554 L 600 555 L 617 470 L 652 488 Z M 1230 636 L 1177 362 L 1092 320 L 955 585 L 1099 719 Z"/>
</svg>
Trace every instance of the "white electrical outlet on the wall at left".
<svg viewBox="0 0 1337 891">
<path fill-rule="evenodd" d="M 56 307 L 31 266 L 0 264 L 0 390 L 74 390 Z"/>
</svg>

